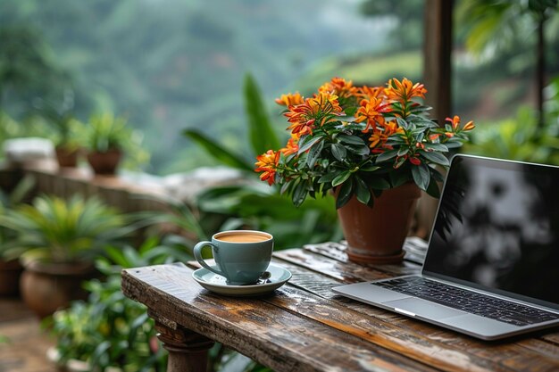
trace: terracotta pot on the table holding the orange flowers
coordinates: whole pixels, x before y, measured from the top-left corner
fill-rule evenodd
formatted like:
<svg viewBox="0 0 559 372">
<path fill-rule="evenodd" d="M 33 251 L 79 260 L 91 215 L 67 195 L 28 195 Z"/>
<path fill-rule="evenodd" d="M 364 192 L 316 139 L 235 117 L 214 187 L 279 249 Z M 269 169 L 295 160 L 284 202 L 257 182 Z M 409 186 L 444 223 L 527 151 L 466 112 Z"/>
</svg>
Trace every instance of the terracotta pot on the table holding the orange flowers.
<svg viewBox="0 0 559 372">
<path fill-rule="evenodd" d="M 373 208 L 355 197 L 338 209 L 347 241 L 349 260 L 360 263 L 396 263 L 404 258 L 405 237 L 421 190 L 413 183 L 384 190 Z"/>
</svg>

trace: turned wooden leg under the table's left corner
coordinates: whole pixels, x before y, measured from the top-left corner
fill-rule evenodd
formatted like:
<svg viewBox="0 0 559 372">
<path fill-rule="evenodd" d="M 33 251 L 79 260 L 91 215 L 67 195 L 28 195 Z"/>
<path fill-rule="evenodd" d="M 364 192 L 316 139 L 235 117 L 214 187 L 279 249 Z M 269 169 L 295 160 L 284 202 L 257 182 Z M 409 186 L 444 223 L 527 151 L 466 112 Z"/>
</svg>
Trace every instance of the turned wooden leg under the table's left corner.
<svg viewBox="0 0 559 372">
<path fill-rule="evenodd" d="M 167 372 L 205 372 L 208 366 L 208 351 L 213 346 L 209 338 L 153 313 L 157 338 L 169 351 Z"/>
</svg>

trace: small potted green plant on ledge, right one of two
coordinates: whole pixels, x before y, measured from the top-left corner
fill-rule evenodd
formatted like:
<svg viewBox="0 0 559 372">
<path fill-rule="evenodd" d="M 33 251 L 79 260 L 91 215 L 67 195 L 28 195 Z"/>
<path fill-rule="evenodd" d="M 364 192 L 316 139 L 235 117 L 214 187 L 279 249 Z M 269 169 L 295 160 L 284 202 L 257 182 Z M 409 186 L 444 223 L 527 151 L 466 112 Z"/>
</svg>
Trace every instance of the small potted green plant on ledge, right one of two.
<svg viewBox="0 0 559 372">
<path fill-rule="evenodd" d="M 96 174 L 114 174 L 133 134 L 127 120 L 111 112 L 99 113 L 89 120 L 87 133 L 89 165 Z"/>
</svg>

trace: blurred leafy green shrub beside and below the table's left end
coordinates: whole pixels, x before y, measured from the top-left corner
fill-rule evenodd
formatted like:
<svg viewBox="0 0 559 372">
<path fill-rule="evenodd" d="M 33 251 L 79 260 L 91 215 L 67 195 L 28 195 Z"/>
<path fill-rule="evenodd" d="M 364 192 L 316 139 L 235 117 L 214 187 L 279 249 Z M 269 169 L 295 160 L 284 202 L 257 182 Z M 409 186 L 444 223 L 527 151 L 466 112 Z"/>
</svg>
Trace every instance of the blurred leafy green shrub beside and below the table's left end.
<svg viewBox="0 0 559 372">
<path fill-rule="evenodd" d="M 105 279 L 85 284 L 88 300 L 54 313 L 51 360 L 69 371 L 163 371 L 166 352 L 155 337 L 154 322 L 144 305 L 121 293 L 121 269 L 191 259 L 185 252 L 154 236 L 138 248 L 109 247 L 96 262 Z"/>
</svg>

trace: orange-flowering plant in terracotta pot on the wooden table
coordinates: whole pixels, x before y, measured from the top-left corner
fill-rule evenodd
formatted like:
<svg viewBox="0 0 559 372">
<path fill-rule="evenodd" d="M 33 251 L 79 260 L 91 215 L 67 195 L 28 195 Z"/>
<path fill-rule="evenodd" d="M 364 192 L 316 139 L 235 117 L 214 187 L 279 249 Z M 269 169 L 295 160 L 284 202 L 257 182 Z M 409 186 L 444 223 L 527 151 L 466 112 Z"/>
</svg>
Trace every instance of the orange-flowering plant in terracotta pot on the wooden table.
<svg viewBox="0 0 559 372">
<path fill-rule="evenodd" d="M 290 138 L 258 156 L 255 170 L 296 206 L 307 195 L 335 194 L 350 260 L 402 260 L 420 189 L 438 197 L 437 167 L 449 165 L 445 153 L 474 128 L 458 116 L 430 119 L 426 93 L 409 79 L 355 87 L 334 78 L 309 98 L 282 95 Z"/>
</svg>

